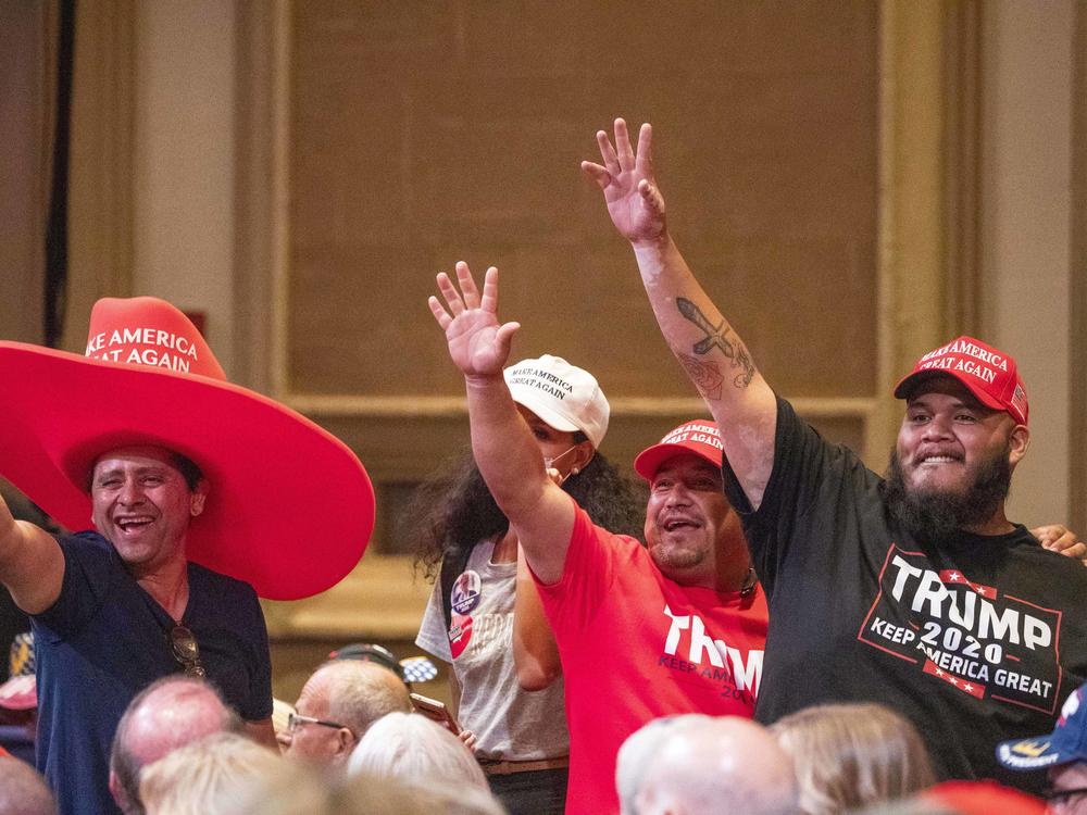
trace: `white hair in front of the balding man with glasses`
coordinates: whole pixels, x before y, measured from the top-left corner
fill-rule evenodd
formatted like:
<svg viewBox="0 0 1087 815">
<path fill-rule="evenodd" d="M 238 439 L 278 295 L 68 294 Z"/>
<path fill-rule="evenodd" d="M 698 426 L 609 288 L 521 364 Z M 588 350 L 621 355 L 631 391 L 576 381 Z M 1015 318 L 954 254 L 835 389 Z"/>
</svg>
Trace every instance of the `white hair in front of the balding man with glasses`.
<svg viewBox="0 0 1087 815">
<path fill-rule="evenodd" d="M 420 785 L 443 779 L 489 789 L 464 742 L 417 713 L 390 713 L 371 725 L 351 753 L 348 773 L 392 776 Z"/>
</svg>

